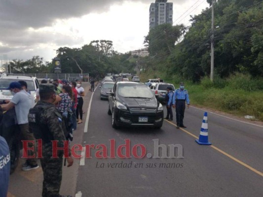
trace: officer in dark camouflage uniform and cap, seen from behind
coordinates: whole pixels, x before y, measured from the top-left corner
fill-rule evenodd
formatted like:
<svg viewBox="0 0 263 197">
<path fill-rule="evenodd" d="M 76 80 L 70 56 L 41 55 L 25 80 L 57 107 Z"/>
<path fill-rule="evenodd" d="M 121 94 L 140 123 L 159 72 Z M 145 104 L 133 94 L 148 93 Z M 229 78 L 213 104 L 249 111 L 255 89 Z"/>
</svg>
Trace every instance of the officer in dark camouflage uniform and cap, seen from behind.
<svg viewBox="0 0 263 197">
<path fill-rule="evenodd" d="M 52 157 L 54 146 L 52 146 L 51 140 L 57 140 L 59 148 L 64 147 L 63 141 L 66 140 L 62 116 L 53 104 L 56 99 L 54 85 L 40 84 L 39 96 L 40 100 L 34 108 L 30 109 L 28 117 L 30 130 L 33 131 L 37 140 L 42 141 L 42 158 L 40 158 L 44 176 L 42 197 L 65 197 L 59 195 L 63 154 L 66 157 L 65 149 L 57 151 L 58 157 Z M 66 159 L 68 167 L 73 165 L 70 150 Z"/>
</svg>

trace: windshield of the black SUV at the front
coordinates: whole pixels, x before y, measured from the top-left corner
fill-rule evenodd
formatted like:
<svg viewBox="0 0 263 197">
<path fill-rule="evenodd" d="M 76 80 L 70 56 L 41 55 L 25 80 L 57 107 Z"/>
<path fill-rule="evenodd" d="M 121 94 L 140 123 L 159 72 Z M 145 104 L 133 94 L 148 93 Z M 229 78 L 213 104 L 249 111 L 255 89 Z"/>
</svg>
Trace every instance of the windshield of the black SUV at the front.
<svg viewBox="0 0 263 197">
<path fill-rule="evenodd" d="M 118 95 L 130 98 L 154 98 L 154 95 L 147 86 L 136 84 L 120 84 L 118 87 Z"/>
</svg>

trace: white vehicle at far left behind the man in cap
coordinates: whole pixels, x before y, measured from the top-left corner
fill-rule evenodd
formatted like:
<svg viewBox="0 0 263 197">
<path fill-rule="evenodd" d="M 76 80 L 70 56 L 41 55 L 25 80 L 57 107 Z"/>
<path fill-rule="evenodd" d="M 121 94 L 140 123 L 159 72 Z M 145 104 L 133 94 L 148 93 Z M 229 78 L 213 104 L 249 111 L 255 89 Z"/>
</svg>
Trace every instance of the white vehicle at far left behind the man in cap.
<svg viewBox="0 0 263 197">
<path fill-rule="evenodd" d="M 19 74 L 2 74 L 0 77 L 0 102 L 4 100 L 11 100 L 13 98 L 11 92 L 7 90 L 9 84 L 14 81 L 26 81 L 28 85 L 28 91 L 36 100 L 36 91 L 38 89 L 38 79 L 30 75 Z"/>
</svg>

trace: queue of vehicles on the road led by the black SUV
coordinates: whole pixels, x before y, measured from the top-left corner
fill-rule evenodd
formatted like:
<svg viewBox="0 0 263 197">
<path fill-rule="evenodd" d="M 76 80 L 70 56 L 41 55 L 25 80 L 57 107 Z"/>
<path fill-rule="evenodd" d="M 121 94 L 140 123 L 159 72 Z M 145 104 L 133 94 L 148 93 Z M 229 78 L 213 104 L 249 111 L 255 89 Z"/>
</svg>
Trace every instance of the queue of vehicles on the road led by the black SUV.
<svg viewBox="0 0 263 197">
<path fill-rule="evenodd" d="M 173 84 L 159 82 L 158 79 L 156 79 L 158 82 L 149 79 L 145 84 L 139 81 L 108 80 L 109 76 L 102 80 L 100 99 L 108 100 L 107 113 L 112 117 L 113 128 L 162 127 L 164 114 L 162 103 L 165 103 L 167 86 L 175 90 Z"/>
</svg>

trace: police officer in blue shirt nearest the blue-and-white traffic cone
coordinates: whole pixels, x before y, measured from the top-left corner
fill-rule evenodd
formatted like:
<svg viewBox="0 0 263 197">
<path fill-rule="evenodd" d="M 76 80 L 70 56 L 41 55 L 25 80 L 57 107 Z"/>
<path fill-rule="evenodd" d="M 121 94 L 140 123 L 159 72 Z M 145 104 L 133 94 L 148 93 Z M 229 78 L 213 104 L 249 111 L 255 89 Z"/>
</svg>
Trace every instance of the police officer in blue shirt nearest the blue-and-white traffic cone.
<svg viewBox="0 0 263 197">
<path fill-rule="evenodd" d="M 181 82 L 180 88 L 176 89 L 173 96 L 173 107 L 175 108 L 176 111 L 177 129 L 179 129 L 179 127 L 186 128 L 183 122 L 185 109 L 186 109 L 186 102 L 189 108 L 190 100 L 188 96 L 188 91 L 185 89 L 185 83 Z"/>
</svg>

